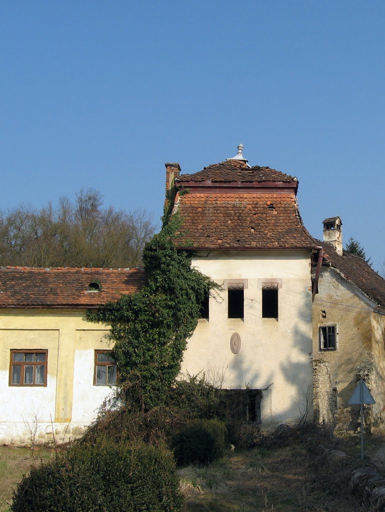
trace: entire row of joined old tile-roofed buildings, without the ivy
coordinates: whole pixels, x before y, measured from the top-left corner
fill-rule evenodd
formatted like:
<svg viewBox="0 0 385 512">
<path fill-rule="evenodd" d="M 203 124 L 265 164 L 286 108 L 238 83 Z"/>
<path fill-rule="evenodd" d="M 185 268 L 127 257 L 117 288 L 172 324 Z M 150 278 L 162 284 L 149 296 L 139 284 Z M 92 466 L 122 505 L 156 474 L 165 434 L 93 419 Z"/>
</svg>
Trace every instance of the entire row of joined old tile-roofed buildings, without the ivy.
<svg viewBox="0 0 385 512">
<path fill-rule="evenodd" d="M 221 286 L 202 304 L 181 372 L 254 390 L 245 419 L 262 428 L 312 417 L 314 389 L 317 419 L 345 430 L 355 430 L 347 400 L 363 376 L 376 399 L 367 422 L 380 431 L 385 281 L 342 250 L 339 217 L 323 222 L 322 242 L 310 236 L 297 189 L 295 177 L 251 167 L 241 145 L 196 173 L 166 164 L 176 243 Z M 0 269 L 2 442 L 84 431 L 118 370 L 108 328 L 85 313 L 145 282 L 141 269 Z"/>
</svg>

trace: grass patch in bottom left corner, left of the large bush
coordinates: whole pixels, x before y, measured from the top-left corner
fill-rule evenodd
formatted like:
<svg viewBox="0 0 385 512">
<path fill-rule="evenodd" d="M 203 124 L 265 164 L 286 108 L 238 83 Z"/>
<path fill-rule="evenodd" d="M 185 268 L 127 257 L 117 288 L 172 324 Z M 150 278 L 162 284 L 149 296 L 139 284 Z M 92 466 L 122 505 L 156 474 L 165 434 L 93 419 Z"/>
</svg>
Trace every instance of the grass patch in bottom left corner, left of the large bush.
<svg viewBox="0 0 385 512">
<path fill-rule="evenodd" d="M 26 448 L 9 448 L 0 446 L 0 512 L 9 509 L 13 489 L 23 475 L 28 473 L 32 465 L 40 464 L 41 460 L 52 457 L 52 450 L 36 448 L 35 456 Z"/>
</svg>

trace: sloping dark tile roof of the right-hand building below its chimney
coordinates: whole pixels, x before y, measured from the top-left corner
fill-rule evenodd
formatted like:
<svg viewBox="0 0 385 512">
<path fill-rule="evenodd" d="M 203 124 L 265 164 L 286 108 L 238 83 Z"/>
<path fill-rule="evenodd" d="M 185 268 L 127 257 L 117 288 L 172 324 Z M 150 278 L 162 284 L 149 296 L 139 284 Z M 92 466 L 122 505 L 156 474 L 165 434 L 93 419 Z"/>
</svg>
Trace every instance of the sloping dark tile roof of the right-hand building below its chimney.
<svg viewBox="0 0 385 512">
<path fill-rule="evenodd" d="M 325 251 L 325 259 L 378 305 L 385 307 L 385 280 L 357 254 L 343 251 L 340 256 L 333 246 L 316 241 Z"/>
</svg>

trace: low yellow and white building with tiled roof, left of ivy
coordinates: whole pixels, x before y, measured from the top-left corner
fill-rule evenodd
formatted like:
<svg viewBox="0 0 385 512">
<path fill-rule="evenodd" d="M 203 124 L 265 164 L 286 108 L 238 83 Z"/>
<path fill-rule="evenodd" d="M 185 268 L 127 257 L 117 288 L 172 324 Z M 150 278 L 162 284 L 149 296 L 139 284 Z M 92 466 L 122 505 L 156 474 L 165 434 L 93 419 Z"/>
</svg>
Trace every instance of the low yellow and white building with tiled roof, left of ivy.
<svg viewBox="0 0 385 512">
<path fill-rule="evenodd" d="M 134 293 L 141 269 L 0 269 L 0 440 L 68 440 L 116 383 L 105 326 L 87 309 Z"/>
</svg>

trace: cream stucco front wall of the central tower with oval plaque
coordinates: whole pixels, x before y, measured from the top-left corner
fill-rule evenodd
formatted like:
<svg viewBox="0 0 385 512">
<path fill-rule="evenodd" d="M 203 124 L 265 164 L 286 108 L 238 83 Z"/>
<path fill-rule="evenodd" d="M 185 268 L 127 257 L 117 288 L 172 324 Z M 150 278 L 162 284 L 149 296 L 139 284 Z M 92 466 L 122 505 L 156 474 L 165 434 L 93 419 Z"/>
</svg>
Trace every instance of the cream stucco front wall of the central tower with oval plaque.
<svg viewBox="0 0 385 512">
<path fill-rule="evenodd" d="M 227 291 L 210 297 L 209 321 L 200 320 L 189 339 L 182 373 L 204 371 L 226 388 L 269 387 L 261 402 L 262 425 L 298 418 L 312 392 L 310 253 L 210 252 L 193 263 L 218 284 L 247 279 L 248 287 L 244 319 L 227 317 Z M 261 279 L 281 280 L 278 321 L 262 318 Z M 238 354 L 230 349 L 234 332 L 241 338 Z"/>
</svg>

